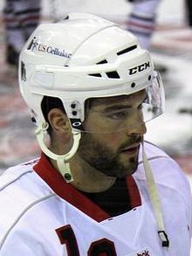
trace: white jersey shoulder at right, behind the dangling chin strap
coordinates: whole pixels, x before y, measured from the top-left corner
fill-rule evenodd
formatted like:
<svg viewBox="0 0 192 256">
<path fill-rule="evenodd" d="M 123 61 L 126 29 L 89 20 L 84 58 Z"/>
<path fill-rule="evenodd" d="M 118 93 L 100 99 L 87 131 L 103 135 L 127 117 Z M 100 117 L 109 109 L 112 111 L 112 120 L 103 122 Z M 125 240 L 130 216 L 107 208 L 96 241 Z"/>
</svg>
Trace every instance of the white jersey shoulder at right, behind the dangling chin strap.
<svg viewBox="0 0 192 256">
<path fill-rule="evenodd" d="M 144 147 L 155 183 L 161 188 L 175 191 L 178 196 L 183 198 L 186 204 L 189 204 L 191 202 L 189 180 L 179 164 L 152 143 L 145 142 Z M 135 172 L 135 178 L 138 181 L 146 181 L 141 152 L 140 163 L 138 171 Z"/>
</svg>

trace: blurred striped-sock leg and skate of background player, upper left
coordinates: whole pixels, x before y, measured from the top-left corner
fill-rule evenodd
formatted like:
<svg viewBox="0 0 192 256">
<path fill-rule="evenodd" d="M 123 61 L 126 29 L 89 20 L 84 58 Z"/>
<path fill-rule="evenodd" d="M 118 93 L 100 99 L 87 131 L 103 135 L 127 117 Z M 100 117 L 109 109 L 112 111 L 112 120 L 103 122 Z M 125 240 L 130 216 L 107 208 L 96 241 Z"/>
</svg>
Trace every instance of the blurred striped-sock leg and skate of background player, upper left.
<svg viewBox="0 0 192 256">
<path fill-rule="evenodd" d="M 18 55 L 40 19 L 41 1 L 6 0 L 3 22 L 6 40 L 6 62 L 18 65 Z"/>
</svg>

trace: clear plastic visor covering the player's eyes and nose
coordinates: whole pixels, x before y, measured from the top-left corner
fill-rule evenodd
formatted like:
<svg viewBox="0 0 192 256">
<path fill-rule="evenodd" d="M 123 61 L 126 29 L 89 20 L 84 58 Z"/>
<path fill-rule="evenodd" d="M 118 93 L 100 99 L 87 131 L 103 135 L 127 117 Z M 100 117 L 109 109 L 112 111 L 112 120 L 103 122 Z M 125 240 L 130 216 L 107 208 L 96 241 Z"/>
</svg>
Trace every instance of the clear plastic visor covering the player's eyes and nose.
<svg viewBox="0 0 192 256">
<path fill-rule="evenodd" d="M 75 128 L 87 133 L 111 133 L 124 129 L 141 133 L 139 129 L 161 115 L 164 109 L 164 90 L 157 73 L 151 84 L 139 92 L 86 100 L 85 121 Z"/>
</svg>

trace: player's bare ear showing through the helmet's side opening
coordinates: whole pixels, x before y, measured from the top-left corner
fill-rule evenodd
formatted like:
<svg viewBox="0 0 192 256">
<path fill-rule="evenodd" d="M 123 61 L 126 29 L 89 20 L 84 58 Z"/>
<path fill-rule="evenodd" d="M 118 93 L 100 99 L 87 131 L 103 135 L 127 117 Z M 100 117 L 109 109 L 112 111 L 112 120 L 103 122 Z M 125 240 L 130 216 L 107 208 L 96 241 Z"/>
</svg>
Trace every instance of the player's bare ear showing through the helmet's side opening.
<svg viewBox="0 0 192 256">
<path fill-rule="evenodd" d="M 48 114 L 48 120 L 53 132 L 57 134 L 71 133 L 72 128 L 67 115 L 61 109 L 52 108 Z"/>
</svg>

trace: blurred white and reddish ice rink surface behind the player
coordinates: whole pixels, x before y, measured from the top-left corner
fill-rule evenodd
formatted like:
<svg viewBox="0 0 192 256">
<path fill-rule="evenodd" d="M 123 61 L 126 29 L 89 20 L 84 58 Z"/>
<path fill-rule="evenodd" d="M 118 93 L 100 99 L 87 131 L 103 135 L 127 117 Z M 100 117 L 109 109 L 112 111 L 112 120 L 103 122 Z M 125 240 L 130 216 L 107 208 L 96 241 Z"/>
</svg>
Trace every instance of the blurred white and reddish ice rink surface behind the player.
<svg viewBox="0 0 192 256">
<path fill-rule="evenodd" d="M 5 2 L 0 0 L 1 173 L 11 165 L 39 155 L 34 136 L 35 127 L 31 123 L 27 107 L 18 89 L 17 65 L 9 63 L 9 61 L 14 62 L 15 59 L 9 59 L 7 55 L 10 53 L 7 52 L 8 46 L 10 47 L 7 32 L 13 30 L 11 27 L 13 19 L 9 17 L 9 8 L 5 10 L 7 4 Z M 127 28 L 130 17 L 134 17 L 132 15 L 134 3 L 126 0 L 44 0 L 39 3 L 40 9 L 36 9 L 36 12 L 34 10 L 33 17 L 28 17 L 28 21 L 32 18 L 34 21 L 34 13 L 36 19 L 39 18 L 38 22 L 46 23 L 61 19 L 71 11 L 82 11 L 107 17 Z M 19 10 L 17 14 L 20 14 Z M 27 14 L 26 10 L 24 14 Z M 190 18 L 189 5 L 186 1 L 159 1 L 149 51 L 164 82 L 166 112 L 156 120 L 147 123 L 146 135 L 146 140 L 154 142 L 175 158 L 189 177 L 189 181 L 192 180 L 192 27 Z M 26 18 L 21 22 L 24 21 Z M 6 22 L 10 24 L 7 25 Z M 11 53 L 10 56 L 12 57 L 13 54 Z"/>
</svg>

